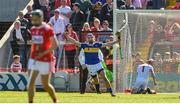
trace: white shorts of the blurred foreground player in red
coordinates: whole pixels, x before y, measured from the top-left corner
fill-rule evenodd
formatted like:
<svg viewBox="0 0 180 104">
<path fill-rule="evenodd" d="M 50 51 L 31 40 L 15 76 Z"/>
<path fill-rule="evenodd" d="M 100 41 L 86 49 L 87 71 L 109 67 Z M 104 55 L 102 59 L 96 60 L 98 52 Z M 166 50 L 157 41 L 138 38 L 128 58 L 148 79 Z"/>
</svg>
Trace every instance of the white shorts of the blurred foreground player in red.
<svg viewBox="0 0 180 104">
<path fill-rule="evenodd" d="M 49 74 L 50 68 L 51 68 L 50 62 L 42 62 L 42 61 L 36 61 L 34 59 L 29 59 L 28 70 L 36 70 L 39 71 L 41 75 L 43 75 L 43 74 Z"/>
</svg>

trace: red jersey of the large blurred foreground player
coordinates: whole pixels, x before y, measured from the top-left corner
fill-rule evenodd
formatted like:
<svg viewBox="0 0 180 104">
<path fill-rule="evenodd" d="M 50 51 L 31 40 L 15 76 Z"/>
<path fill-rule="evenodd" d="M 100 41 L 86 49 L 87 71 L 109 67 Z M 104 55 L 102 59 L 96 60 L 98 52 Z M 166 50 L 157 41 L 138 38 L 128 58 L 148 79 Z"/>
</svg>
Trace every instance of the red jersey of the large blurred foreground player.
<svg viewBox="0 0 180 104">
<path fill-rule="evenodd" d="M 51 48 L 51 40 L 50 37 L 54 36 L 54 31 L 53 29 L 43 23 L 39 27 L 32 27 L 31 28 L 31 36 L 32 36 L 32 46 L 31 46 L 31 55 L 30 57 L 32 59 L 35 59 L 35 54 L 42 53 L 49 48 Z M 51 62 L 53 59 L 53 53 L 50 52 L 43 57 L 39 59 L 35 59 L 38 61 L 43 61 L 43 62 Z"/>
</svg>

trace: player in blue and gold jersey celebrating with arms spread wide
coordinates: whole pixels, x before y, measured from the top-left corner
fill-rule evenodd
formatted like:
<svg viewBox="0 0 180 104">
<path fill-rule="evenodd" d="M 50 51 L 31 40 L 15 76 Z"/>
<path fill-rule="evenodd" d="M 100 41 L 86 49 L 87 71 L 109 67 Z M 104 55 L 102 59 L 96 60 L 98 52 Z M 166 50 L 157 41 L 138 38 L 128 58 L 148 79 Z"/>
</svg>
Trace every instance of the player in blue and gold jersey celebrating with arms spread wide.
<svg viewBox="0 0 180 104">
<path fill-rule="evenodd" d="M 96 91 L 97 93 L 100 93 L 100 86 L 99 86 L 99 78 L 98 75 L 102 76 L 102 78 L 106 82 L 106 87 L 108 91 L 110 92 L 111 96 L 116 96 L 113 91 L 112 91 L 112 86 L 105 76 L 103 66 L 101 64 L 101 56 L 100 55 L 100 49 L 103 47 L 107 46 L 112 46 L 115 43 L 119 42 L 118 38 L 114 42 L 109 42 L 109 43 L 100 43 L 100 42 L 95 42 L 95 37 L 92 33 L 89 33 L 87 35 L 87 42 L 86 43 L 80 43 L 79 41 L 76 41 L 75 39 L 69 37 L 66 35 L 67 40 L 71 41 L 72 43 L 76 44 L 78 47 L 84 50 L 84 56 L 85 56 L 85 65 L 92 76 L 95 86 L 96 86 Z"/>
</svg>

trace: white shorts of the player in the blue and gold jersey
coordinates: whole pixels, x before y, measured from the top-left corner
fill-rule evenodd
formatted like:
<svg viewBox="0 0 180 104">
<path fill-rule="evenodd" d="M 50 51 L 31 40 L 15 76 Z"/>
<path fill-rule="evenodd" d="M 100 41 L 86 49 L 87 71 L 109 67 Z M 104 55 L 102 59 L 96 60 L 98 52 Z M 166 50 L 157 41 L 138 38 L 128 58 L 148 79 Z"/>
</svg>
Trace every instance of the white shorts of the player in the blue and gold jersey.
<svg viewBox="0 0 180 104">
<path fill-rule="evenodd" d="M 98 71 L 103 69 L 101 63 L 97 63 L 95 65 L 86 65 L 86 66 L 87 66 L 87 69 L 89 71 L 89 74 L 92 76 L 97 75 Z"/>
</svg>

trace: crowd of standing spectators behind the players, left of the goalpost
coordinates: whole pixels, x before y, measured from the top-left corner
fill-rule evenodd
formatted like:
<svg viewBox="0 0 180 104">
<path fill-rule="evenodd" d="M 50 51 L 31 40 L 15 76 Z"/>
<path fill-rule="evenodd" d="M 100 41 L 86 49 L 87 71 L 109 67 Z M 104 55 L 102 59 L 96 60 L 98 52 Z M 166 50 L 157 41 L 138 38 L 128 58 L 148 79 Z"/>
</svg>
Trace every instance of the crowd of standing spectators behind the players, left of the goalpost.
<svg viewBox="0 0 180 104">
<path fill-rule="evenodd" d="M 100 34 L 107 34 L 103 42 L 112 40 L 112 22 L 113 22 L 113 1 L 112 0 L 33 0 L 34 4 L 27 6 L 27 13 L 22 11 L 18 13 L 18 19 L 14 23 L 12 30 L 11 48 L 14 55 L 14 62 L 11 66 L 16 67 L 21 63 L 22 68 L 27 67 L 27 60 L 31 46 L 30 28 L 31 12 L 40 9 L 44 13 L 44 21 L 48 23 L 55 32 L 60 42 L 64 44 L 55 51 L 56 60 L 62 63 L 62 53 L 65 52 L 66 63 L 68 69 L 76 68 L 79 50 L 74 44 L 66 41 L 64 33 L 67 32 L 72 38 L 85 41 L 85 36 L 91 32 L 97 41 Z M 102 33 L 101 33 L 102 32 Z M 107 32 L 107 33 L 106 33 Z M 106 54 L 110 53 L 110 49 L 105 50 Z M 112 53 L 112 52 L 111 52 Z M 106 55 L 107 56 L 107 55 Z M 18 58 L 17 58 L 18 57 Z M 19 59 L 19 62 L 16 61 Z M 59 68 L 60 65 L 56 63 Z M 57 65 L 58 64 L 58 65 Z M 19 65 L 20 67 L 20 65 Z"/>
</svg>

